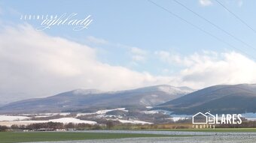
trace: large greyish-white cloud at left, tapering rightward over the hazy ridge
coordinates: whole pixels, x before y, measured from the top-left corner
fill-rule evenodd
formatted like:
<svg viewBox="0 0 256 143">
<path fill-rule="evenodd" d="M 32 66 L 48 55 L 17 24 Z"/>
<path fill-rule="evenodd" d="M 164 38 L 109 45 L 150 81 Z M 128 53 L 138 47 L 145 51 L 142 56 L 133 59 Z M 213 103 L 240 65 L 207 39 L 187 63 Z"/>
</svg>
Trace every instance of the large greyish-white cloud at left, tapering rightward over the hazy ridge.
<svg viewBox="0 0 256 143">
<path fill-rule="evenodd" d="M 97 61 L 96 50 L 61 37 L 50 37 L 30 25 L 0 31 L 2 99 L 43 97 L 75 88 L 120 90 L 166 84 L 151 76 Z M 132 49 L 138 55 L 144 52 Z M 8 98 L 7 98 L 8 97 Z"/>
</svg>

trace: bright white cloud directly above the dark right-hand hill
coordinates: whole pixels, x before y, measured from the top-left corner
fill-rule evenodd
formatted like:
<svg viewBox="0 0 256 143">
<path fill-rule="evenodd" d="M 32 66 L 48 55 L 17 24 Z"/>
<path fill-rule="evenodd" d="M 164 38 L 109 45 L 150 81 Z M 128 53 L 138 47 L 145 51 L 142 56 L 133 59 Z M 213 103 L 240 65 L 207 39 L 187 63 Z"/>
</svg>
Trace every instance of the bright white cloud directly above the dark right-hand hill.
<svg viewBox="0 0 256 143">
<path fill-rule="evenodd" d="M 237 52 L 203 52 L 184 57 L 169 52 L 156 53 L 162 55 L 161 60 L 164 58 L 169 64 L 185 66 L 172 80 L 177 85 L 204 88 L 219 84 L 256 82 L 256 63 Z"/>
</svg>

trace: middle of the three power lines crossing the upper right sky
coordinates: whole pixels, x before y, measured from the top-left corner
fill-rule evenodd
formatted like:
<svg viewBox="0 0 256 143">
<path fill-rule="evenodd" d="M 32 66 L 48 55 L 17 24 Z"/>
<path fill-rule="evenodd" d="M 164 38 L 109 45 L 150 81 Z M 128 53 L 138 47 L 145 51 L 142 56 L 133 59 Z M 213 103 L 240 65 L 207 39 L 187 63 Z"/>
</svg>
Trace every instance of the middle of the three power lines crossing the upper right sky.
<svg viewBox="0 0 256 143">
<path fill-rule="evenodd" d="M 249 45 L 248 43 L 245 43 L 245 41 L 239 39 L 238 37 L 234 36 L 233 34 L 230 34 L 230 32 L 224 30 L 223 28 L 221 28 L 220 26 L 216 25 L 215 23 L 211 22 L 209 19 L 206 19 L 205 17 L 201 16 L 200 14 L 194 12 L 194 10 L 191 10 L 189 7 L 187 7 L 184 4 L 181 4 L 181 2 L 177 1 L 177 0 L 173 0 L 175 1 L 177 4 L 181 5 L 181 7 L 184 7 L 185 9 L 189 10 L 191 13 L 194 13 L 196 16 L 200 17 L 200 19 L 205 20 L 206 22 L 209 22 L 211 25 L 213 25 L 215 28 L 218 28 L 219 30 L 223 31 L 225 34 L 229 35 L 230 37 L 233 37 L 233 39 L 239 41 L 240 43 L 243 43 L 245 46 L 248 46 L 251 49 L 254 49 L 256 51 L 256 49 Z M 216 0 L 217 1 L 217 0 Z"/>
</svg>

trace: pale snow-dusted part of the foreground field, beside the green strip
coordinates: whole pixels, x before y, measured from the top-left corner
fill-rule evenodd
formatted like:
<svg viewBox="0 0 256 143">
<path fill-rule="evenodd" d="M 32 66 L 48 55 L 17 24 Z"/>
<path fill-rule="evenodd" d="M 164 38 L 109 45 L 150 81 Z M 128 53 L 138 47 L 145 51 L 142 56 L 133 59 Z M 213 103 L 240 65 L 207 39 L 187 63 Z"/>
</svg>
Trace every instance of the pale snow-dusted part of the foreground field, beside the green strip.
<svg viewBox="0 0 256 143">
<path fill-rule="evenodd" d="M 168 131 L 86 131 L 93 133 L 147 133 L 161 135 L 193 135 L 191 137 L 161 137 L 161 138 L 133 138 L 133 139 L 104 139 L 66 142 L 41 142 L 41 143 L 254 143 L 256 133 L 199 133 L 199 132 L 168 132 Z"/>
</svg>

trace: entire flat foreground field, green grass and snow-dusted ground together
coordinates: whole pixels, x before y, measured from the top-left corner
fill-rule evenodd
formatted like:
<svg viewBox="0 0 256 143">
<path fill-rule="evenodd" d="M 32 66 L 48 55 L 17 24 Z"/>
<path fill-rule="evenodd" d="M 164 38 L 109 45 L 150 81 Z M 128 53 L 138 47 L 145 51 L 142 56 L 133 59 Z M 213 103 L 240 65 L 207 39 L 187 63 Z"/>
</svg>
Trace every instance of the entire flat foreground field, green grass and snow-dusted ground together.
<svg viewBox="0 0 256 143">
<path fill-rule="evenodd" d="M 75 132 L 0 133 L 0 142 L 32 143 L 251 143 L 256 133 L 212 133 L 142 130 L 87 130 Z"/>
</svg>

